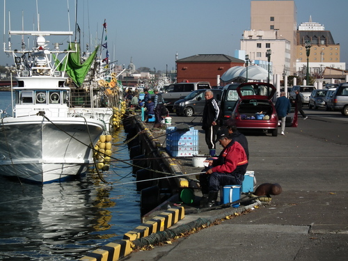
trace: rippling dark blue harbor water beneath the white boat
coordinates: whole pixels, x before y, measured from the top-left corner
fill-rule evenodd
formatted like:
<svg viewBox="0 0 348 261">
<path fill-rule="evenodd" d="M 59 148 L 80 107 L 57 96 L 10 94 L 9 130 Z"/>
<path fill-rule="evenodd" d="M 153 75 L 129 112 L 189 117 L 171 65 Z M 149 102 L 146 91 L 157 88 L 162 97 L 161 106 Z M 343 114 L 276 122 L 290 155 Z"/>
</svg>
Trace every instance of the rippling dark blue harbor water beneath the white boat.
<svg viewBox="0 0 348 261">
<path fill-rule="evenodd" d="M 0 92 L 8 114 L 10 100 L 10 92 Z M 113 158 L 125 162 L 111 161 L 102 173 L 107 184 L 95 171 L 43 186 L 0 176 L 0 260 L 77 260 L 139 226 L 140 193 L 125 139 L 122 128 L 113 133 Z"/>
</svg>

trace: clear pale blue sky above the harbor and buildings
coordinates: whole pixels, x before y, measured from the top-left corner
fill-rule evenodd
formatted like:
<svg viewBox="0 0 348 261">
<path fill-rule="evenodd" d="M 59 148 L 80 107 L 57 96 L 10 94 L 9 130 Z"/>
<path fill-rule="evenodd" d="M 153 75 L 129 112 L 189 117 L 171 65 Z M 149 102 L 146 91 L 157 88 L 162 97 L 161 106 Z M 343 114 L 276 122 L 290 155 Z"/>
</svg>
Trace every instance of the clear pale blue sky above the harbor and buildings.
<svg viewBox="0 0 348 261">
<path fill-rule="evenodd" d="M 179 58 L 195 54 L 234 56 L 242 33 L 250 29 L 251 22 L 251 0 L 38 0 L 41 30 L 68 31 L 69 9 L 70 29 L 74 31 L 76 2 L 81 43 L 94 46 L 102 42 L 102 24 L 106 19 L 110 61 L 127 66 L 132 57 L 136 68 L 166 70 L 168 65 L 168 70 L 172 70 L 176 52 Z M 311 15 L 313 22 L 323 24 L 335 42 L 340 43 L 340 62 L 347 63 L 348 1 L 295 0 L 295 4 L 297 23 L 308 22 Z M 9 11 L 12 30 L 22 30 L 22 11 L 24 29 L 37 28 L 36 0 L 6 1 L 6 32 Z M 0 25 L 3 31 L 3 19 Z M 5 39 L 7 42 L 7 34 Z M 46 40 L 51 41 L 50 45 L 55 42 L 52 38 Z M 68 40 L 59 38 L 64 48 Z M 21 37 L 13 36 L 12 43 L 13 49 L 19 48 Z M 13 61 L 0 52 L 0 65 L 6 63 Z"/>
</svg>

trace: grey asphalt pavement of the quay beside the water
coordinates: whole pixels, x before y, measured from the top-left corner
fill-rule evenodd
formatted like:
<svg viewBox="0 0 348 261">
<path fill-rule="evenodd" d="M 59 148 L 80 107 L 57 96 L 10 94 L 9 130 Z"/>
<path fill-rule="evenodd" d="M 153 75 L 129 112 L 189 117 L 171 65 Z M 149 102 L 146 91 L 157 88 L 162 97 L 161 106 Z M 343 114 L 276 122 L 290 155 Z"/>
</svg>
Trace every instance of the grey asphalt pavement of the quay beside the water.
<svg viewBox="0 0 348 261">
<path fill-rule="evenodd" d="M 271 203 L 123 260 L 347 260 L 348 117 L 305 111 L 308 119 L 299 116 L 298 127 L 287 127 L 284 136 L 246 134 L 248 171 L 255 171 L 257 186 L 270 182 L 283 188 Z M 200 129 L 199 116 L 171 117 L 173 125 Z M 203 135 L 200 150 L 207 153 Z M 207 215 L 216 212 L 186 215 L 177 226 Z"/>
</svg>

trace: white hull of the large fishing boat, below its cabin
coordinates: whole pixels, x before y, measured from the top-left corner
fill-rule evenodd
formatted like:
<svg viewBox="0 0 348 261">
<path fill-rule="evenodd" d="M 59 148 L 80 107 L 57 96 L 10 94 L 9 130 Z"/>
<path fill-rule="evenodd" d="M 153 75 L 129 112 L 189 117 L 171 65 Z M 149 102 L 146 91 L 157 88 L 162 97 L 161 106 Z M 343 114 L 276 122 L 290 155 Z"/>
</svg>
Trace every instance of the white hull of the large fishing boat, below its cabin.
<svg viewBox="0 0 348 261">
<path fill-rule="evenodd" d="M 76 177 L 93 164 L 103 131 L 103 122 L 90 118 L 3 118 L 0 174 L 41 184 Z"/>
</svg>

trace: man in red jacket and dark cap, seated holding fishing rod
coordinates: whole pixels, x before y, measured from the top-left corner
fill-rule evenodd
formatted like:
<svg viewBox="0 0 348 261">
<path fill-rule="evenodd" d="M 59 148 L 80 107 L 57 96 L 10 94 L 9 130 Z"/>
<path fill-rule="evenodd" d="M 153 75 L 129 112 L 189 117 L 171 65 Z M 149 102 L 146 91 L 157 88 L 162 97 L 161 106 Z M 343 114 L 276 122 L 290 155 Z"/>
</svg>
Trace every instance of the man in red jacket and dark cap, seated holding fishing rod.
<svg viewBox="0 0 348 261">
<path fill-rule="evenodd" d="M 244 148 L 237 141 L 232 141 L 228 129 L 220 129 L 217 136 L 223 150 L 218 159 L 206 160 L 210 167 L 205 174 L 200 175 L 202 193 L 205 195 L 208 192 L 205 207 L 215 204 L 220 187 L 242 184 L 248 166 Z"/>
</svg>

